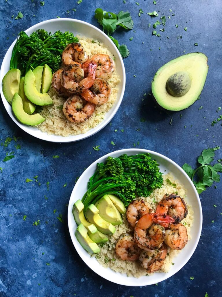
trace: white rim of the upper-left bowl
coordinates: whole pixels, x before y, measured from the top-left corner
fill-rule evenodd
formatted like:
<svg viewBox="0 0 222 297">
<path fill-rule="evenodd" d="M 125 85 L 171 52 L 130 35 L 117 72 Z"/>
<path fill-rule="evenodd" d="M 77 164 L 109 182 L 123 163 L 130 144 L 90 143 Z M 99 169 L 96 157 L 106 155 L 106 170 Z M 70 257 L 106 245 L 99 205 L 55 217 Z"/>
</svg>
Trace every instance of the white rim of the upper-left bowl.
<svg viewBox="0 0 222 297">
<path fill-rule="evenodd" d="M 47 23 L 50 23 L 50 22 L 61 22 L 61 21 L 70 21 L 70 22 L 74 22 L 74 23 L 79 23 L 79 24 L 84 24 L 86 26 L 89 26 L 93 29 L 95 29 L 96 31 L 98 31 L 98 34 L 101 34 L 103 35 L 103 37 L 107 40 L 108 43 L 110 43 L 111 45 L 113 44 L 112 40 L 102 31 L 100 30 L 99 28 L 97 28 L 96 26 L 94 25 L 91 25 L 90 23 L 87 23 L 85 21 L 82 21 L 82 20 L 77 20 L 77 19 L 71 19 L 71 18 L 54 18 L 54 19 L 50 19 L 50 20 L 44 20 L 40 23 L 37 23 L 31 27 L 29 27 L 28 29 L 25 30 L 25 32 L 27 31 L 35 31 L 35 28 L 38 27 L 38 26 L 43 26 Z M 6 63 L 6 56 L 7 56 L 7 53 L 9 50 L 12 50 L 14 45 L 15 45 L 15 42 L 16 42 L 17 39 L 14 40 L 14 42 L 12 42 L 12 44 L 10 45 L 10 47 L 8 48 L 5 56 L 4 56 L 4 59 L 2 61 L 2 64 L 1 64 L 1 69 L 0 69 L 0 77 L 4 77 L 4 75 L 6 73 L 3 73 L 3 65 Z M 114 44 L 113 44 L 114 45 Z M 114 46 L 115 48 L 115 46 Z M 4 105 L 4 108 L 6 109 L 7 113 L 8 113 L 8 116 L 10 116 L 10 118 L 15 122 L 15 124 L 17 124 L 18 127 L 20 127 L 23 131 L 25 131 L 26 133 L 28 133 L 29 135 L 33 136 L 33 137 L 36 137 L 38 139 L 41 139 L 41 140 L 46 140 L 46 141 L 49 141 L 49 142 L 54 142 L 54 143 L 70 143 L 70 142 L 75 142 L 75 141 L 79 141 L 79 140 L 83 140 L 83 139 L 86 139 L 94 134 L 96 134 L 97 132 L 99 132 L 100 130 L 102 130 L 111 120 L 112 118 L 115 116 L 115 114 L 117 113 L 119 107 L 120 107 L 120 104 L 122 103 L 122 100 L 123 100 L 123 95 L 124 95 L 124 92 L 125 92 L 125 87 L 126 87 L 126 71 L 125 71 L 125 67 L 124 67 L 124 63 L 123 63 L 123 58 L 122 56 L 120 55 L 120 52 L 119 50 L 116 48 L 116 53 L 115 53 L 115 56 L 118 56 L 119 57 L 119 60 L 120 60 L 120 68 L 123 72 L 123 77 L 121 77 L 121 80 L 122 80 L 122 90 L 121 90 L 121 93 L 120 93 L 120 97 L 118 100 L 116 100 L 117 102 L 117 105 L 115 106 L 114 110 L 112 111 L 112 113 L 110 114 L 110 116 L 107 118 L 107 119 L 103 119 L 100 123 L 101 123 L 101 127 L 98 127 L 99 124 L 93 128 L 94 131 L 91 131 L 93 129 L 90 129 L 88 130 L 85 134 L 78 134 L 78 135 L 68 135 L 67 137 L 64 137 L 64 136 L 61 136 L 61 135 L 55 135 L 55 134 L 52 134 L 52 135 L 48 135 L 47 132 L 42 132 L 40 135 L 35 135 L 35 133 L 29 131 L 29 128 L 31 126 L 27 126 L 25 124 L 22 124 L 20 123 L 16 117 L 14 116 L 13 112 L 12 114 L 9 114 L 8 111 L 7 111 L 7 108 L 6 106 L 9 104 L 9 102 L 6 100 L 6 98 L 4 97 L 4 94 L 3 94 L 3 90 L 2 90 L 2 82 L 0 83 L 0 94 L 1 94 L 1 100 L 3 102 L 3 105 Z M 32 128 L 36 128 L 36 127 L 32 127 Z M 91 131 L 91 132 L 90 132 Z M 89 133 L 88 133 L 89 132 Z M 46 134 L 45 134 L 46 133 Z M 41 137 L 41 135 L 45 135 L 45 137 Z M 55 139 L 50 139 L 51 137 L 55 137 Z M 59 140 L 57 140 L 57 137 L 59 137 Z M 67 140 L 67 138 L 74 138 L 72 140 Z"/>
</svg>

